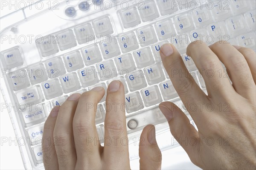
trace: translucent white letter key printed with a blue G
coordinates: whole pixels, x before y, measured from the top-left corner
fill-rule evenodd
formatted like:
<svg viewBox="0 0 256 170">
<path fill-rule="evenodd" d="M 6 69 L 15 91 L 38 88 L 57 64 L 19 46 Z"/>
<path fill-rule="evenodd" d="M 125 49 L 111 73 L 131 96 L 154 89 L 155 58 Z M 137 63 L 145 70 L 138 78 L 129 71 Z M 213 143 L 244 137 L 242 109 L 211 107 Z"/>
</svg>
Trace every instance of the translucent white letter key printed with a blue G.
<svg viewBox="0 0 256 170">
<path fill-rule="evenodd" d="M 133 71 L 125 78 L 131 92 L 147 86 L 143 70 Z"/>
</svg>

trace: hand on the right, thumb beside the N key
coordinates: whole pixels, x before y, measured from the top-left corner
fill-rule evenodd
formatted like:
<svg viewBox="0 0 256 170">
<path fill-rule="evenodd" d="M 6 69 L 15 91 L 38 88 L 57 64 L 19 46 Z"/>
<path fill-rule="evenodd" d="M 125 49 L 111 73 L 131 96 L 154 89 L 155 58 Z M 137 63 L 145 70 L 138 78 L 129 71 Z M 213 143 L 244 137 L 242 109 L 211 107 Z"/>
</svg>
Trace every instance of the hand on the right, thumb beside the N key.
<svg viewBox="0 0 256 170">
<path fill-rule="evenodd" d="M 180 99 L 198 127 L 197 131 L 175 104 L 160 104 L 172 135 L 191 161 L 203 169 L 255 169 L 254 51 L 224 42 L 209 47 L 200 41 L 192 42 L 187 47 L 187 55 L 202 69 L 207 95 L 190 74 L 184 74 L 189 72 L 174 45 L 163 45 L 160 55 Z M 232 84 L 225 77 L 220 61 L 227 68 Z"/>
</svg>

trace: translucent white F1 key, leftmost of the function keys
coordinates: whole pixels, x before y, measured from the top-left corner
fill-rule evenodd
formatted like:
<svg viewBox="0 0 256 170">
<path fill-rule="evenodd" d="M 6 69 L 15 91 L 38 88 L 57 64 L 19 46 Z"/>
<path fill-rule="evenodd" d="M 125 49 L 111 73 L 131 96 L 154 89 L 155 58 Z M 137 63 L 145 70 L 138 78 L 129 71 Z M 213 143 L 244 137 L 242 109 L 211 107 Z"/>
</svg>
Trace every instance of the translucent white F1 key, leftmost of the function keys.
<svg viewBox="0 0 256 170">
<path fill-rule="evenodd" d="M 54 35 L 47 35 L 45 37 L 39 37 L 36 41 L 36 45 L 43 57 L 47 57 L 59 52 L 58 42 Z"/>
</svg>

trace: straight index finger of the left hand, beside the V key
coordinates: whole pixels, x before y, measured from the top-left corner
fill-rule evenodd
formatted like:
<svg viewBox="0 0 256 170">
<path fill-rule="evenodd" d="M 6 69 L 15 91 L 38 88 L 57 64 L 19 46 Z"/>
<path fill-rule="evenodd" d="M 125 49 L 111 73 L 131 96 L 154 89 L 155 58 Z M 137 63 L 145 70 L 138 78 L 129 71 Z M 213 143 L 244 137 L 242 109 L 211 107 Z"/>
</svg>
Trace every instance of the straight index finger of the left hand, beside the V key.
<svg viewBox="0 0 256 170">
<path fill-rule="evenodd" d="M 113 155 L 114 159 L 110 155 Z M 125 92 L 124 86 L 120 81 L 113 81 L 108 86 L 104 156 L 107 159 L 106 161 L 113 162 L 114 164 L 129 162 L 121 161 L 123 159 L 129 159 L 129 153 L 125 118 Z"/>
</svg>

